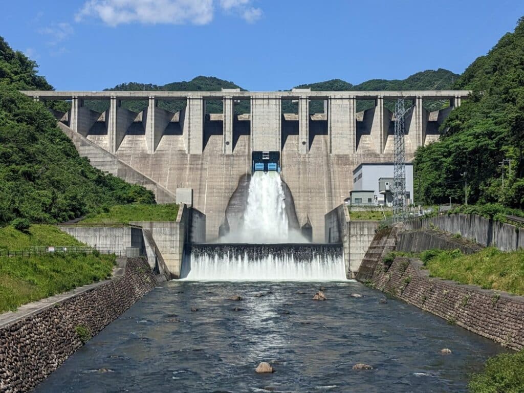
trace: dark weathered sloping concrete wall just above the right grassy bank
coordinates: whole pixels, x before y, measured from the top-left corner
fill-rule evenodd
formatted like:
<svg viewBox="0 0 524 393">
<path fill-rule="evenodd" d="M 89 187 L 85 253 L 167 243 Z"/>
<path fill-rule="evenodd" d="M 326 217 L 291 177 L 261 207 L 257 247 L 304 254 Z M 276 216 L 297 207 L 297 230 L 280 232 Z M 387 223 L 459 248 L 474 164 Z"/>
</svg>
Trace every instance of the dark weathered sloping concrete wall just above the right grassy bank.
<svg viewBox="0 0 524 393">
<path fill-rule="evenodd" d="M 481 250 L 483 246 L 464 238 L 456 238 L 442 231 L 419 230 L 400 233 L 395 249 L 420 253 L 432 248 L 441 250 L 460 249 L 463 254 L 473 254 Z"/>
</svg>

